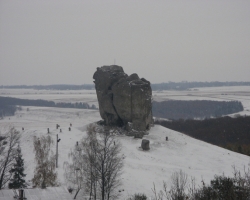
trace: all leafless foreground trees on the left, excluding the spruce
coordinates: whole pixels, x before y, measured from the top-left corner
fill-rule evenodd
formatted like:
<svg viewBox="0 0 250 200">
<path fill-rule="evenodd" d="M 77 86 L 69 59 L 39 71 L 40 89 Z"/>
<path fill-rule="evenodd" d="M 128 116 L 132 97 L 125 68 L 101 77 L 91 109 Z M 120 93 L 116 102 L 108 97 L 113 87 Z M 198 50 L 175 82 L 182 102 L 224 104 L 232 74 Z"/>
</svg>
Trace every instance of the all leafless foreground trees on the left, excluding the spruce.
<svg viewBox="0 0 250 200">
<path fill-rule="evenodd" d="M 18 170 L 13 170 L 17 161 L 23 167 L 19 141 L 20 133 L 15 128 L 10 128 L 0 137 L 0 189 L 11 180 L 12 172 L 17 173 Z M 49 135 L 35 136 L 33 144 L 36 162 L 33 186 L 57 186 L 55 155 L 51 151 L 53 139 Z M 75 197 L 83 190 L 90 199 L 116 199 L 123 167 L 120 153 L 121 144 L 108 129 L 105 131 L 97 129 L 95 125 L 88 126 L 87 136 L 69 153 L 71 162 L 64 163 L 65 177 L 76 190 Z M 21 172 L 23 174 L 23 169 Z"/>
</svg>

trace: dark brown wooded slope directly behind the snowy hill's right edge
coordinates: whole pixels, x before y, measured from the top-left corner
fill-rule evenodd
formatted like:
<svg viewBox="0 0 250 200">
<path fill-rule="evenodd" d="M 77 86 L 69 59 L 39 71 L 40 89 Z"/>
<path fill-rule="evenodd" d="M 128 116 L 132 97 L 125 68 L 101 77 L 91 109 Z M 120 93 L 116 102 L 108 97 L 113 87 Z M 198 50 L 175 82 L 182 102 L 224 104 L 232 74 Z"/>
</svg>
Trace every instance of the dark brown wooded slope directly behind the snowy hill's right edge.
<svg viewBox="0 0 250 200">
<path fill-rule="evenodd" d="M 156 120 L 155 124 L 250 156 L 250 116 L 205 120 Z"/>
</svg>

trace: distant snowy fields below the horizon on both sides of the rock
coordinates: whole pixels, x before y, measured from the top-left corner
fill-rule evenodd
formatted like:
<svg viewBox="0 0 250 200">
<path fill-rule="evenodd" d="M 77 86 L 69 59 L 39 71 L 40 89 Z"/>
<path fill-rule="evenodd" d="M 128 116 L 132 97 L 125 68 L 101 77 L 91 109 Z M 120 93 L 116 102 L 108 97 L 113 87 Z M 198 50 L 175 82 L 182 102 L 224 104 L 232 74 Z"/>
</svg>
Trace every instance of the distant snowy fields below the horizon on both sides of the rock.
<svg viewBox="0 0 250 200">
<path fill-rule="evenodd" d="M 20 99 L 43 99 L 54 102 L 84 102 L 98 107 L 95 90 L 34 90 L 0 89 L 0 96 Z M 244 111 L 237 113 L 250 115 L 250 86 L 192 88 L 184 91 L 153 91 L 154 101 L 166 100 L 211 100 L 241 101 Z"/>
</svg>

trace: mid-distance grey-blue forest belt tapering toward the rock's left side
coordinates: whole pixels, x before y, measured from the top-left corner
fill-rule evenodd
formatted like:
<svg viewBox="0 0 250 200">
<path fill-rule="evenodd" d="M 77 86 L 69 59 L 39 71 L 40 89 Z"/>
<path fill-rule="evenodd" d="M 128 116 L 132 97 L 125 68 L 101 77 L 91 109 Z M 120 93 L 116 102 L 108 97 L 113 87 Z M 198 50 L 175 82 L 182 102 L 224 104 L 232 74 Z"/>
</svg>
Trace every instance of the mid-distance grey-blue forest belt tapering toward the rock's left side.
<svg viewBox="0 0 250 200">
<path fill-rule="evenodd" d="M 18 106 L 39 106 L 39 107 L 59 107 L 59 108 L 78 108 L 78 109 L 96 109 L 95 105 L 90 106 L 87 103 L 55 103 L 46 100 L 29 100 L 12 97 L 0 97 L 0 117 L 12 116 L 15 114 Z"/>
</svg>

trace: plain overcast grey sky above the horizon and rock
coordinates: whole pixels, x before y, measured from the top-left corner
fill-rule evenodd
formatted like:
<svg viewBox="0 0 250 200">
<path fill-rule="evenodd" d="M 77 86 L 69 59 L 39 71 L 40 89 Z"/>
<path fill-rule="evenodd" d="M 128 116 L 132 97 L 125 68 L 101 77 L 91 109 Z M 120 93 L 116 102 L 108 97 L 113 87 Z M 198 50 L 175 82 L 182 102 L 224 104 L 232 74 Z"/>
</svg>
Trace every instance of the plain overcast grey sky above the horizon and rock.
<svg viewBox="0 0 250 200">
<path fill-rule="evenodd" d="M 250 81 L 249 0 L 0 0 L 0 85 Z"/>
</svg>

